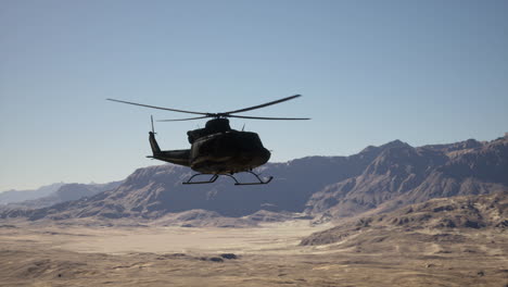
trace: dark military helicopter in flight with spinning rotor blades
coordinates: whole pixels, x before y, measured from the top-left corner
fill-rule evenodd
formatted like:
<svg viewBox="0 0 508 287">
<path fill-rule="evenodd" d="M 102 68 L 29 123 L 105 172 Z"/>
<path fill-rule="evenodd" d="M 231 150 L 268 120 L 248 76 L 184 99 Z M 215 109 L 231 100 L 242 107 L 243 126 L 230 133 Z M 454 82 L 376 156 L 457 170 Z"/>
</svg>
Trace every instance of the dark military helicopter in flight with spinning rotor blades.
<svg viewBox="0 0 508 287">
<path fill-rule="evenodd" d="M 149 132 L 149 141 L 153 154 L 148 155 L 147 158 L 188 166 L 198 172 L 182 184 L 211 184 L 215 183 L 219 176 L 228 176 L 234 180 L 234 185 L 266 185 L 270 183 L 274 177 L 269 176 L 267 178 L 261 178 L 258 174 L 253 172 L 253 170 L 268 162 L 271 155 L 270 151 L 263 146 L 263 142 L 256 133 L 244 132 L 243 128 L 242 130 L 232 129 L 229 125 L 228 117 L 269 121 L 310 120 L 308 117 L 263 117 L 237 115 L 237 113 L 262 109 L 299 97 L 301 97 L 301 95 L 294 95 L 276 101 L 221 113 L 193 112 L 115 99 L 106 100 L 157 110 L 199 115 L 187 118 L 160 120 L 157 122 L 192 121 L 212 117 L 212 120 L 206 122 L 204 128 L 187 132 L 191 148 L 182 150 L 161 150 L 155 139 L 153 116 L 151 117 L 152 130 Z M 250 173 L 254 175 L 256 182 L 241 183 L 239 179 L 237 179 L 237 177 L 234 177 L 234 174 L 237 173 Z M 193 180 L 196 176 L 201 175 L 212 175 L 212 177 L 207 180 Z"/>
</svg>

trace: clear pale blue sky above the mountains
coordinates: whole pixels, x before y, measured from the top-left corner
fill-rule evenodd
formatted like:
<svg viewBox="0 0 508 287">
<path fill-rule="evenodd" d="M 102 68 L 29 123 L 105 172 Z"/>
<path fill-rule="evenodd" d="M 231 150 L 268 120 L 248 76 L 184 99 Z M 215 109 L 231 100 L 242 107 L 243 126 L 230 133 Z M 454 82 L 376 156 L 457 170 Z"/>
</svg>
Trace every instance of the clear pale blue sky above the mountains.
<svg viewBox="0 0 508 287">
<path fill-rule="evenodd" d="M 220 112 L 271 161 L 508 132 L 508 1 L 0 1 L 0 190 L 110 182 L 150 161 L 150 114 Z M 158 123 L 163 149 L 205 121 Z"/>
</svg>

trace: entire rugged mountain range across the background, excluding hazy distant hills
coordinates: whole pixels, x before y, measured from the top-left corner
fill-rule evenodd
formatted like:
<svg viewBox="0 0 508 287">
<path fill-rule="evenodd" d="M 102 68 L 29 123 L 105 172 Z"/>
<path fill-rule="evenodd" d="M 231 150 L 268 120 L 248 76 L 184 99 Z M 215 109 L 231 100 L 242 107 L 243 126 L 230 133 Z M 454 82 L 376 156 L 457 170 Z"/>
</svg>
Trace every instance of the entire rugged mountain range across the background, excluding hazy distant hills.
<svg viewBox="0 0 508 287">
<path fill-rule="evenodd" d="M 225 216 L 305 211 L 327 219 L 388 212 L 432 198 L 508 189 L 508 139 L 420 148 L 395 140 L 351 157 L 309 157 L 258 171 L 275 179 L 265 186 L 238 187 L 226 177 L 212 185 L 185 186 L 181 182 L 192 174 L 188 167 L 151 166 L 87 199 L 0 216 L 154 219 L 200 209 Z"/>
</svg>

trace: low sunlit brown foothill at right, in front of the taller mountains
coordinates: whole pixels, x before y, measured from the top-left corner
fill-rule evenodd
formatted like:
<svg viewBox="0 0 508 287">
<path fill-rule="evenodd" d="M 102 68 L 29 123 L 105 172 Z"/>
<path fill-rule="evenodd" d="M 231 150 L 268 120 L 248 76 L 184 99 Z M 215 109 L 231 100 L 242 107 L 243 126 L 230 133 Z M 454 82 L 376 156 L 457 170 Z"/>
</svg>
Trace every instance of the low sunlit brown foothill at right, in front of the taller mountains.
<svg viewBox="0 0 508 287">
<path fill-rule="evenodd" d="M 390 213 L 350 221 L 336 227 L 315 233 L 304 238 L 301 245 L 328 245 L 350 238 L 355 238 L 354 241 L 357 239 L 356 236 L 365 236 L 366 234 L 376 238 L 388 230 L 408 233 L 454 228 L 506 230 L 508 228 L 508 191 L 432 199 Z"/>
</svg>

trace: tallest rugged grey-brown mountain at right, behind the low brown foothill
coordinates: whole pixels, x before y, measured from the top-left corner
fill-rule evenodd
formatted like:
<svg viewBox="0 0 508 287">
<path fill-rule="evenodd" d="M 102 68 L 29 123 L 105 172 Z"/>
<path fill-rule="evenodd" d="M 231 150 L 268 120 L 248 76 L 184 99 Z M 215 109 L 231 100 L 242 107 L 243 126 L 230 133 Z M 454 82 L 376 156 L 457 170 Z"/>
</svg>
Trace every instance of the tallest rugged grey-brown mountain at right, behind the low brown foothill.
<svg viewBox="0 0 508 287">
<path fill-rule="evenodd" d="M 312 196 L 306 212 L 346 217 L 388 212 L 432 198 L 508 189 L 508 140 L 412 148 L 394 141 L 358 176 Z"/>
</svg>

